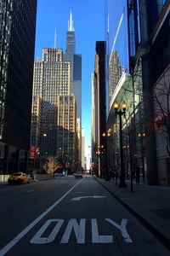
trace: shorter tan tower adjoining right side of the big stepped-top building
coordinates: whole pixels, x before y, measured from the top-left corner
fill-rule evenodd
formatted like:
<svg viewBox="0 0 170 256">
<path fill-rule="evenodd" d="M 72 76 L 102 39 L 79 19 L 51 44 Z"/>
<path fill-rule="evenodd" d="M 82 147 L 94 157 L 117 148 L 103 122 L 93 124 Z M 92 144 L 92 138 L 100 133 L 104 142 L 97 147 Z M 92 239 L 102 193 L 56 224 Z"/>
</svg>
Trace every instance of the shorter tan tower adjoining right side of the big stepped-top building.
<svg viewBox="0 0 170 256">
<path fill-rule="evenodd" d="M 76 166 L 77 161 L 77 106 L 75 96 L 57 96 L 57 158 Z"/>
</svg>

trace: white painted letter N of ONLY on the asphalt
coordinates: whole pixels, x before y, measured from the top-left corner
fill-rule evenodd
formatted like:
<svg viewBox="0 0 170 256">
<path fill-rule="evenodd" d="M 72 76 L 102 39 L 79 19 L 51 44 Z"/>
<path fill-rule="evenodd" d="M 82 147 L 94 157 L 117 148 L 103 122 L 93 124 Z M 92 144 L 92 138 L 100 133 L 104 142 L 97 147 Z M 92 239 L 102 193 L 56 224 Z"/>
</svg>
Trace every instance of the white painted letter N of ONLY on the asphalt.
<svg viewBox="0 0 170 256">
<path fill-rule="evenodd" d="M 72 229 L 75 231 L 75 235 L 77 237 L 77 243 L 84 243 L 85 242 L 85 223 L 86 223 L 85 218 L 81 218 L 80 224 L 77 223 L 77 220 L 75 218 L 71 218 L 71 220 L 67 224 L 65 233 L 60 243 L 67 243 L 69 241 Z"/>
</svg>

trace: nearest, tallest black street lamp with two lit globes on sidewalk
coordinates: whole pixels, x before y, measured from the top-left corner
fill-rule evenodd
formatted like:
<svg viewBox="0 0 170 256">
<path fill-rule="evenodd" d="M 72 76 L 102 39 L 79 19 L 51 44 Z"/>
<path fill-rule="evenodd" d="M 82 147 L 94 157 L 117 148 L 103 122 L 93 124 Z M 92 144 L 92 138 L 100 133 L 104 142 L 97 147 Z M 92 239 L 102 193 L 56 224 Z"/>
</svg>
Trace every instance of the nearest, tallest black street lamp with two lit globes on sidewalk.
<svg viewBox="0 0 170 256">
<path fill-rule="evenodd" d="M 122 103 L 122 109 L 119 109 L 119 104 L 117 102 L 114 103 L 115 114 L 119 116 L 120 119 L 120 151 L 121 151 L 121 173 L 120 173 L 120 183 L 119 188 L 126 188 L 127 184 L 125 183 L 125 172 L 124 172 L 124 164 L 123 164 L 123 152 L 122 152 L 122 115 L 125 117 L 127 105 L 125 102 Z"/>
</svg>

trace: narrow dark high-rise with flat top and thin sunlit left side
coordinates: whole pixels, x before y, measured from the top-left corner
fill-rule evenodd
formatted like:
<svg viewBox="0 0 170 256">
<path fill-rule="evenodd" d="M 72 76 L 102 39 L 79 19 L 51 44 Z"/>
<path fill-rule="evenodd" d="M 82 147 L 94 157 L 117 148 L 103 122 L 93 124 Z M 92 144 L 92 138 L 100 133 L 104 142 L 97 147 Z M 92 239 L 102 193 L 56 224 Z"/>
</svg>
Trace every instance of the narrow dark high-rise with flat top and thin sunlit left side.
<svg viewBox="0 0 170 256">
<path fill-rule="evenodd" d="M 105 41 L 97 41 L 95 49 L 95 67 L 94 67 L 94 104 L 95 109 L 93 125 L 95 144 L 93 144 L 94 170 L 99 177 L 105 173 L 105 137 L 103 134 L 106 131 L 106 106 L 105 106 Z"/>
</svg>

